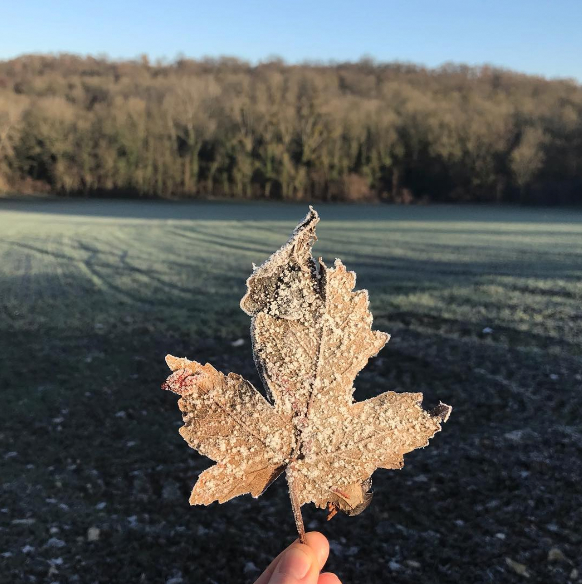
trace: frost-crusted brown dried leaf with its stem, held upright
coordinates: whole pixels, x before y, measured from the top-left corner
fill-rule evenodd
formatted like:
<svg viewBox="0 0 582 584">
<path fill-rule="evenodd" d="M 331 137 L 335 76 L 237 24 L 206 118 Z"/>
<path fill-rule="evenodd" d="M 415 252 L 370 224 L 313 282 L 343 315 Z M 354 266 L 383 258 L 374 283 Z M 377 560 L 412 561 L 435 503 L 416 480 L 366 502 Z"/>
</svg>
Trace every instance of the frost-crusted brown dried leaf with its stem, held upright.
<svg viewBox="0 0 582 584">
<path fill-rule="evenodd" d="M 328 268 L 312 257 L 318 221 L 310 207 L 289 241 L 253 269 L 241 300 L 269 400 L 235 373 L 170 355 L 163 384 L 181 396 L 184 439 L 217 462 L 198 477 L 190 503 L 257 497 L 285 471 L 301 538 L 301 505 L 360 513 L 372 472 L 401 468 L 451 411 L 425 411 L 417 393 L 354 402 L 354 378 L 390 337 L 372 331 L 356 274 L 339 259 Z"/>
</svg>

